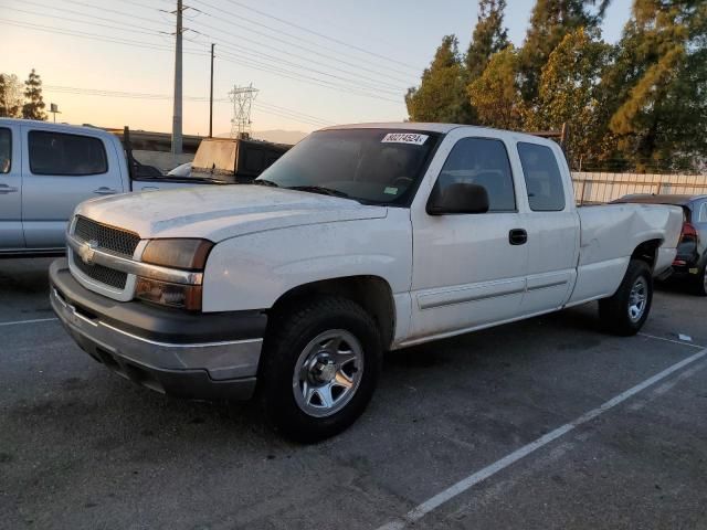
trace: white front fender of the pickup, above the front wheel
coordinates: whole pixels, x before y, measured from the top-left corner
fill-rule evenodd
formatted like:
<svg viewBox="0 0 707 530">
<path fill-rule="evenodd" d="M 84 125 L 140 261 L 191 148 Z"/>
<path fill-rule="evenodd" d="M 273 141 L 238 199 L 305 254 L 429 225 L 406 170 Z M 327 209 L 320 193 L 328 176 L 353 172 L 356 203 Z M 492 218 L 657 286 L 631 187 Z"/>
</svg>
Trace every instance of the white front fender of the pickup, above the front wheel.
<svg viewBox="0 0 707 530">
<path fill-rule="evenodd" d="M 203 310 L 268 309 L 288 290 L 324 279 L 378 276 L 410 290 L 410 212 L 256 232 L 218 243 L 207 262 Z"/>
</svg>

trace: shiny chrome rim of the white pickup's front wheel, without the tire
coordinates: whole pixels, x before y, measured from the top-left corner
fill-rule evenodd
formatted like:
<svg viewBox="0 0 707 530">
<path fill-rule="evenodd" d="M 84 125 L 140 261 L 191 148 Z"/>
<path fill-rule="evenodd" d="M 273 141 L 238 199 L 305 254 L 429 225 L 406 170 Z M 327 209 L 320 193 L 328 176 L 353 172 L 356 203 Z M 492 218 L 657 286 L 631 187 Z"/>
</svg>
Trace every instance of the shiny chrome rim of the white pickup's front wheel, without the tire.
<svg viewBox="0 0 707 530">
<path fill-rule="evenodd" d="M 326 417 L 344 409 L 363 377 L 363 348 L 349 331 L 317 335 L 304 348 L 293 373 L 292 389 L 299 410 Z"/>
</svg>

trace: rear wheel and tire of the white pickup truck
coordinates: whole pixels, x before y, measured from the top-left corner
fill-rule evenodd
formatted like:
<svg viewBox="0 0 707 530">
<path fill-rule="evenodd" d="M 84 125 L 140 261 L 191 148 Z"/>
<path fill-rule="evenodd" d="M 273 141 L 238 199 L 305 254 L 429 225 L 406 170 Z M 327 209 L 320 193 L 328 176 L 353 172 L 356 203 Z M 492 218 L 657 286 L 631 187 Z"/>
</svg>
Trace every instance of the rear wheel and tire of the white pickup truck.
<svg viewBox="0 0 707 530">
<path fill-rule="evenodd" d="M 611 298 L 599 300 L 599 317 L 612 333 L 636 335 L 651 312 L 653 275 L 648 264 L 631 259 L 619 289 Z"/>
</svg>

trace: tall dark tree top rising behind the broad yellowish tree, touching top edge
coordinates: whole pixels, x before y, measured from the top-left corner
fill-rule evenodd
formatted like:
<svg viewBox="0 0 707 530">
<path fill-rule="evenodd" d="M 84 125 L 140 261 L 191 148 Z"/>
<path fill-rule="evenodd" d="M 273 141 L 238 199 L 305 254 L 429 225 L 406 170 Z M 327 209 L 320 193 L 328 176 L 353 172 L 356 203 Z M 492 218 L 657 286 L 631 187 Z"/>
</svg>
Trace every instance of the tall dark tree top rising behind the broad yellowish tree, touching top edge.
<svg viewBox="0 0 707 530">
<path fill-rule="evenodd" d="M 537 0 L 520 50 L 523 95 L 531 104 L 538 94 L 542 67 L 564 35 L 579 28 L 599 28 L 611 0 Z"/>
</svg>

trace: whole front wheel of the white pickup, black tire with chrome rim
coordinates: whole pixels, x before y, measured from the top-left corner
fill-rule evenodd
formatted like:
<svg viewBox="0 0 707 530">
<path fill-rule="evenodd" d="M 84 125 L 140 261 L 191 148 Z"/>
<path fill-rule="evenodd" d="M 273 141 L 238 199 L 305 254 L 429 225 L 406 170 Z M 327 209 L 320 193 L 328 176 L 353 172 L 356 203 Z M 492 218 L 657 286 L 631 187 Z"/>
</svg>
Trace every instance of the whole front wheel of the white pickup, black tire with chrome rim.
<svg viewBox="0 0 707 530">
<path fill-rule="evenodd" d="M 273 315 L 258 389 L 266 417 L 304 443 L 334 436 L 366 410 L 381 371 L 374 320 L 346 298 Z"/>
</svg>

